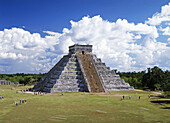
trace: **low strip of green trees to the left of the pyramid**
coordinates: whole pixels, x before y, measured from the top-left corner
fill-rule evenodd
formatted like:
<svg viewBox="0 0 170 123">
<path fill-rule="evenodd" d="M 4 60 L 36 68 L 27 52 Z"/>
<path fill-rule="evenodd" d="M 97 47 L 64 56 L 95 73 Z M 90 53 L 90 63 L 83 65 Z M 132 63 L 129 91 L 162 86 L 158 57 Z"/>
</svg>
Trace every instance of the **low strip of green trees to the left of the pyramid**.
<svg viewBox="0 0 170 123">
<path fill-rule="evenodd" d="M 17 74 L 0 74 L 0 80 L 7 80 L 14 83 L 20 84 L 34 84 L 38 82 L 44 74 L 24 74 L 24 73 L 17 73 Z"/>
</svg>

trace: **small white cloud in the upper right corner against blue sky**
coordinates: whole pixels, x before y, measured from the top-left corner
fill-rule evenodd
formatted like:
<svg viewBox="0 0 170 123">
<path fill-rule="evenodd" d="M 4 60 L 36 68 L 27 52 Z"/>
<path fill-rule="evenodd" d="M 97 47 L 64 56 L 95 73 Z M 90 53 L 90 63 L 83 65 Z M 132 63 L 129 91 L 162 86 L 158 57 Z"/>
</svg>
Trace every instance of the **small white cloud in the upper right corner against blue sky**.
<svg viewBox="0 0 170 123">
<path fill-rule="evenodd" d="M 170 3 L 168 3 L 168 5 L 162 6 L 161 13 L 154 14 L 152 18 L 148 18 L 146 23 L 150 25 L 160 25 L 165 21 L 170 21 Z"/>
</svg>

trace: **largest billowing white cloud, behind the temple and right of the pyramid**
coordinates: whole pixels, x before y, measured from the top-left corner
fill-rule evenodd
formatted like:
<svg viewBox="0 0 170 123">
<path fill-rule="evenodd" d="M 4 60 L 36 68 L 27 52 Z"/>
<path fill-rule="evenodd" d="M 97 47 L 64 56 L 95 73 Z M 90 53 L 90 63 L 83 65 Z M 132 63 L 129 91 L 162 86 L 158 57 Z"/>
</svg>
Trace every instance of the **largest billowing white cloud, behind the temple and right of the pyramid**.
<svg viewBox="0 0 170 123">
<path fill-rule="evenodd" d="M 125 19 L 109 22 L 94 16 L 83 17 L 78 22 L 71 21 L 71 25 L 71 29 L 61 35 L 57 48 L 62 45 L 62 51 L 67 52 L 68 46 L 74 43 L 92 44 L 98 57 L 121 71 L 157 65 L 155 57 L 160 57 L 168 49 L 166 43 L 156 41 L 159 36 L 157 28 L 147 24 L 135 25 Z"/>
</svg>

